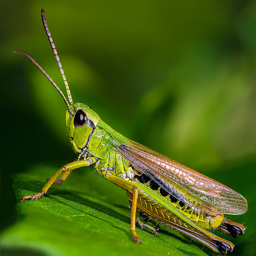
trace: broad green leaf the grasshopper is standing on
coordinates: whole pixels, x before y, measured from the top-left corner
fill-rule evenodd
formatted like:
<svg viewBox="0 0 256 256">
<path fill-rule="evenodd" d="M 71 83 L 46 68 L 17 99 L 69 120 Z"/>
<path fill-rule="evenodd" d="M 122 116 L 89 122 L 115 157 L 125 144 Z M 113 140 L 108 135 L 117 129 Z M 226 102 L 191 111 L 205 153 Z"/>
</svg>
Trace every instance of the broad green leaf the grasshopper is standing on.
<svg viewBox="0 0 256 256">
<path fill-rule="evenodd" d="M 5 255 L 208 255 L 201 244 L 164 227 L 157 237 L 137 228 L 142 244 L 136 244 L 124 190 L 99 180 L 92 168 L 84 170 L 71 173 L 37 201 L 25 203 L 19 198 L 40 191 L 56 170 L 34 166 L 15 176 L 19 220 L 3 233 Z"/>
</svg>

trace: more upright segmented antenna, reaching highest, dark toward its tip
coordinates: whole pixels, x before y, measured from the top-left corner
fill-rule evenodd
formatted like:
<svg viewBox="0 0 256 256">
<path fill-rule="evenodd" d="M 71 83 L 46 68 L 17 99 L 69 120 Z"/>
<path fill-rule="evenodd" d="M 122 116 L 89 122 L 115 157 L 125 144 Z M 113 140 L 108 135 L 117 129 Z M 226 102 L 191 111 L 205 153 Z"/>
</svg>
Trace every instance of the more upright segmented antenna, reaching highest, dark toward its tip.
<svg viewBox="0 0 256 256">
<path fill-rule="evenodd" d="M 56 50 L 56 48 L 55 48 L 55 44 L 53 43 L 51 33 L 50 33 L 50 31 L 49 31 L 47 22 L 46 22 L 46 20 L 45 20 L 44 9 L 41 10 L 41 16 L 42 16 L 42 21 L 43 21 L 43 24 L 44 24 L 44 29 L 45 29 L 46 35 L 47 35 L 48 40 L 49 40 L 49 42 L 50 42 L 50 44 L 51 44 L 52 52 L 53 52 L 53 54 L 54 54 L 54 56 L 55 56 L 55 59 L 56 59 L 57 64 L 58 64 L 58 67 L 59 67 L 59 69 L 60 69 L 60 74 L 61 74 L 61 76 L 62 76 L 63 82 L 64 82 L 65 87 L 66 87 L 66 91 L 67 91 L 67 94 L 68 94 L 68 100 L 69 100 L 70 104 L 72 104 L 72 103 L 73 103 L 73 100 L 72 100 L 71 92 L 70 92 L 69 87 L 68 87 L 68 81 L 67 81 L 66 76 L 65 76 L 65 74 L 64 74 L 64 70 L 63 70 L 63 68 L 62 68 L 62 66 L 61 66 L 61 62 L 60 62 L 60 57 L 59 57 L 58 52 L 57 52 L 57 50 Z M 27 57 L 27 56 L 26 56 L 26 57 Z M 28 58 L 28 57 L 27 57 L 27 58 Z M 30 58 L 31 58 L 31 57 L 30 57 Z M 39 65 L 38 65 L 38 66 L 39 66 Z M 40 67 L 40 66 L 39 66 L 39 67 Z M 59 90 L 60 90 L 60 89 L 59 89 Z M 66 104 L 66 105 L 67 105 L 67 104 Z"/>
</svg>

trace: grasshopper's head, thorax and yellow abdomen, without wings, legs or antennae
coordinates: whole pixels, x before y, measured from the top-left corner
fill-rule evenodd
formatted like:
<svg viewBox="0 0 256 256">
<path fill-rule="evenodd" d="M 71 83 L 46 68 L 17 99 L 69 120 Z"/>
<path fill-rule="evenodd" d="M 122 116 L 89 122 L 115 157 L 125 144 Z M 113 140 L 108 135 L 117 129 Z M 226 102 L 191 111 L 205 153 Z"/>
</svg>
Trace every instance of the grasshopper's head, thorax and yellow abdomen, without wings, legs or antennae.
<svg viewBox="0 0 256 256">
<path fill-rule="evenodd" d="M 82 127 L 74 127 L 74 116 L 70 115 L 70 110 L 66 113 L 66 122 L 68 136 L 71 140 L 74 150 L 80 154 L 80 160 L 96 157 L 98 161 L 95 164 L 97 171 L 105 177 L 106 173 L 124 178 L 126 180 L 135 181 L 136 171 L 129 166 L 128 160 L 119 154 L 115 148 L 122 144 L 128 143 L 130 140 L 121 133 L 114 130 L 106 124 L 100 116 L 90 107 L 83 103 L 73 103 L 70 105 L 74 113 L 82 109 L 89 120 Z M 89 156 L 87 155 L 89 153 Z M 93 160 L 94 162 L 94 160 Z M 137 179 L 138 181 L 138 179 Z M 138 181 L 138 183 L 141 183 Z M 143 182 L 142 182 L 143 184 Z M 150 181 L 144 183 L 148 187 L 148 195 L 158 195 L 163 202 L 166 202 L 166 210 L 178 211 L 184 218 L 192 220 L 200 227 L 205 229 L 217 228 L 223 220 L 223 214 L 211 215 L 208 212 L 200 211 L 194 207 L 190 207 L 179 200 L 172 200 L 171 195 L 163 196 L 160 188 L 154 190 L 150 186 Z M 180 192 L 182 193 L 182 192 Z M 185 193 L 182 196 L 186 197 Z"/>
</svg>

